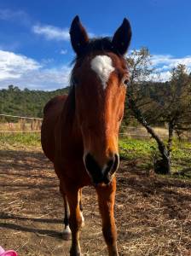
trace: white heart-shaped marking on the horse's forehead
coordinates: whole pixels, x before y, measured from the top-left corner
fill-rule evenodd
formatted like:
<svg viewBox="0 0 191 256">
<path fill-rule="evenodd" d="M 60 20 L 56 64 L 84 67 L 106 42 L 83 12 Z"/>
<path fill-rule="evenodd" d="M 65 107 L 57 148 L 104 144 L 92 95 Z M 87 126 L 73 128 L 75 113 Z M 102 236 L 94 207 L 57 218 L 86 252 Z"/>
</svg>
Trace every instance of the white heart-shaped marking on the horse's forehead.
<svg viewBox="0 0 191 256">
<path fill-rule="evenodd" d="M 93 69 L 101 79 L 103 89 L 106 89 L 110 73 L 114 70 L 112 59 L 107 55 L 97 55 L 91 61 L 91 69 Z"/>
</svg>

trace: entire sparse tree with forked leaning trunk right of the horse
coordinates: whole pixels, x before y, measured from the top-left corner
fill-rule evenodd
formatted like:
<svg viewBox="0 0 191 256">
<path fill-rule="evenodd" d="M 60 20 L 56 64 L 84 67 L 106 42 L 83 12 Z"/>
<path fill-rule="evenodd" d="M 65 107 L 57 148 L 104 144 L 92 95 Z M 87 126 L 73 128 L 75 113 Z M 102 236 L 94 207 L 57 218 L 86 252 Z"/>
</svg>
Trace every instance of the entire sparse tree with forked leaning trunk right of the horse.
<svg viewBox="0 0 191 256">
<path fill-rule="evenodd" d="M 158 144 L 159 159 L 154 161 L 154 171 L 170 174 L 174 131 L 180 135 L 181 131 L 190 129 L 190 76 L 185 66 L 178 65 L 171 71 L 170 82 L 155 86 L 157 83 L 152 81 L 154 70 L 147 48 L 132 51 L 127 62 L 130 68 L 128 108 Z M 156 123 L 168 126 L 167 143 L 153 130 L 151 125 Z"/>
</svg>

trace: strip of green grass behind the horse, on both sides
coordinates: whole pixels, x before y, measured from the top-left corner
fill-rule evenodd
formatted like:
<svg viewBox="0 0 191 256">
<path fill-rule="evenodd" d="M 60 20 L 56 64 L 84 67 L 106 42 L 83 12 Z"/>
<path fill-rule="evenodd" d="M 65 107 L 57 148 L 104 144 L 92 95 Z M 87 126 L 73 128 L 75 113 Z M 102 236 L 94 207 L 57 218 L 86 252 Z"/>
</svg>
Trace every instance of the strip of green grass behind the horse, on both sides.
<svg viewBox="0 0 191 256">
<path fill-rule="evenodd" d="M 0 148 L 41 148 L 40 133 L 0 134 Z M 153 156 L 158 152 L 153 140 L 140 140 L 135 138 L 120 138 L 119 153 L 125 160 L 137 160 L 141 168 L 153 168 Z M 171 154 L 172 172 L 177 172 L 191 166 L 191 143 L 174 141 Z M 191 173 L 190 173 L 191 177 Z"/>
</svg>

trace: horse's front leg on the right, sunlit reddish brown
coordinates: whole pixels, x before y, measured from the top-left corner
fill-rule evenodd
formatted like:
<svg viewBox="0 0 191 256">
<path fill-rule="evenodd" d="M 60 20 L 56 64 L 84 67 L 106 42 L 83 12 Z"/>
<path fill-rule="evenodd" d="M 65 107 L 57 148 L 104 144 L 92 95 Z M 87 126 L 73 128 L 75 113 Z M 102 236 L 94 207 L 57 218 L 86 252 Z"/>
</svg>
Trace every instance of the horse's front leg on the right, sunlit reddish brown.
<svg viewBox="0 0 191 256">
<path fill-rule="evenodd" d="M 102 232 L 107 243 L 109 256 L 119 256 L 117 248 L 117 230 L 114 220 L 114 202 L 116 179 L 106 186 L 96 187 L 101 212 Z"/>
</svg>

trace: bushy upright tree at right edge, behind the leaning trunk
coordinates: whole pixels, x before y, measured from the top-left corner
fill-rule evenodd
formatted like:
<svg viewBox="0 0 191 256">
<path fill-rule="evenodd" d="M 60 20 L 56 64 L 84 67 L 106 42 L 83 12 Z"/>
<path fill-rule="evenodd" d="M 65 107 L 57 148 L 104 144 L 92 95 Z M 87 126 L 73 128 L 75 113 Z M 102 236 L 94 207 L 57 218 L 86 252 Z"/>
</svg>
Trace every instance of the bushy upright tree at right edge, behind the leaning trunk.
<svg viewBox="0 0 191 256">
<path fill-rule="evenodd" d="M 185 65 L 172 68 L 169 90 L 166 90 L 164 98 L 162 119 L 168 124 L 168 148 L 171 150 L 173 133 L 176 131 L 181 137 L 183 131 L 191 130 L 191 78 Z"/>
</svg>

